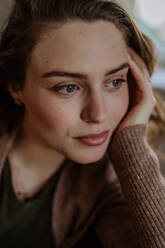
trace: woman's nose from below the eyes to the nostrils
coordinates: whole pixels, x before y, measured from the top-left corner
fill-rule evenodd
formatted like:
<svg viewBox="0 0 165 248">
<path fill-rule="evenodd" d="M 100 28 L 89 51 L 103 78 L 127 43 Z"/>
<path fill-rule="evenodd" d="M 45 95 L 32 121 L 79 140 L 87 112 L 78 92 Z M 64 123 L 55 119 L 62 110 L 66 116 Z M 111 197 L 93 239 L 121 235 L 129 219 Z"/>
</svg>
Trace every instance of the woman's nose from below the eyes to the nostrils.
<svg viewBox="0 0 165 248">
<path fill-rule="evenodd" d="M 85 101 L 81 119 L 85 122 L 102 123 L 107 116 L 105 99 L 101 94 L 93 94 Z"/>
</svg>

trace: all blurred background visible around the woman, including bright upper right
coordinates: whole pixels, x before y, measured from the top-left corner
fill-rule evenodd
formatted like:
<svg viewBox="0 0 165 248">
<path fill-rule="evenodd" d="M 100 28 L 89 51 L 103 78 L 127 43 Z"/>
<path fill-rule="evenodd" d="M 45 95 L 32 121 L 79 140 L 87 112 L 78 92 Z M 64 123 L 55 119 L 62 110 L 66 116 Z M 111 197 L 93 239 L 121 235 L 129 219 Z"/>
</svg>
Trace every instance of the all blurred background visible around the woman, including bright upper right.
<svg viewBox="0 0 165 248">
<path fill-rule="evenodd" d="M 153 88 L 165 102 L 165 0 L 116 0 L 123 5 L 143 33 L 154 42 L 157 65 L 152 75 Z M 0 0 L 0 28 L 13 0 Z M 165 140 L 158 147 L 161 170 L 165 175 Z"/>
</svg>

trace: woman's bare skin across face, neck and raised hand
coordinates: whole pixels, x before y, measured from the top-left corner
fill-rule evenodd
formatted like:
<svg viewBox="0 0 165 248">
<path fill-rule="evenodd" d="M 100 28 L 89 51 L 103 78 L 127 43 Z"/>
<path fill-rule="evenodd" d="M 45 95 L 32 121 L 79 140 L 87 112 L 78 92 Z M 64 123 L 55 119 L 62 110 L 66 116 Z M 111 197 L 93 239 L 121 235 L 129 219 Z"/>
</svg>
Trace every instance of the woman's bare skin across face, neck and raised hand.
<svg viewBox="0 0 165 248">
<path fill-rule="evenodd" d="M 151 92 L 143 94 L 149 88 L 143 83 L 148 74 L 137 61 L 145 68 L 141 59 L 128 51 L 122 33 L 109 22 L 71 22 L 41 37 L 32 52 L 24 88 L 17 92 L 10 89 L 25 105 L 21 135 L 10 153 L 15 191 L 37 191 L 66 158 L 81 164 L 98 161 L 114 131 L 147 122 L 152 104 L 146 102 L 151 100 Z M 125 68 L 106 75 L 126 63 Z M 129 68 L 136 80 L 137 101 L 121 123 L 129 104 Z M 49 73 L 54 70 L 85 76 Z M 118 80 L 117 87 L 114 80 Z M 66 87 L 59 88 L 68 84 L 75 85 L 71 93 Z M 77 139 L 105 130 L 109 130 L 108 138 L 99 146 L 89 147 Z"/>
</svg>

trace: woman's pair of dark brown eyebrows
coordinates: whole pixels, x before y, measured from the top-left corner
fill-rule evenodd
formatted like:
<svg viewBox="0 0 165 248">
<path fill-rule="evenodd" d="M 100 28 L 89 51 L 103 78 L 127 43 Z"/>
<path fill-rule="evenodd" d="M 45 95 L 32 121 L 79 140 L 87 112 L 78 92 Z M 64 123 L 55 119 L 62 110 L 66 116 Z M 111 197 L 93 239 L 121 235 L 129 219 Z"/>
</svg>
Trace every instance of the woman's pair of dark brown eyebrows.
<svg viewBox="0 0 165 248">
<path fill-rule="evenodd" d="M 110 71 L 108 71 L 105 76 L 109 76 L 111 74 L 114 74 L 118 71 L 121 71 L 125 68 L 128 68 L 129 64 L 128 63 L 123 63 L 121 64 L 119 67 L 114 68 Z M 78 78 L 78 79 L 87 79 L 87 75 L 85 74 L 81 74 L 81 73 L 74 73 L 74 72 L 67 72 L 67 71 L 58 71 L 58 70 L 53 70 L 50 72 L 46 72 L 42 75 L 43 78 L 49 78 L 49 77 L 55 77 L 55 76 L 59 76 L 59 77 L 71 77 L 71 78 Z"/>
</svg>

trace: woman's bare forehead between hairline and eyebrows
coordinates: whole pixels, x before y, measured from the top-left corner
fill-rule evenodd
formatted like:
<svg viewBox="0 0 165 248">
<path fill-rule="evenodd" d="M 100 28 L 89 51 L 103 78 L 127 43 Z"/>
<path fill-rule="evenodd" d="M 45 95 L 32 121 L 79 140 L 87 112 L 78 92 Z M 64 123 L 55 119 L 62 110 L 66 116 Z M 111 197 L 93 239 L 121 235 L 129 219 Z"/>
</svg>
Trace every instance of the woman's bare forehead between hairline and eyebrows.
<svg viewBox="0 0 165 248">
<path fill-rule="evenodd" d="M 30 64 L 36 70 L 72 69 L 125 62 L 127 47 L 121 31 L 111 22 L 74 21 L 50 29 L 35 46 Z M 120 60 L 120 61 L 119 61 Z M 69 67 L 69 68 L 67 68 Z"/>
</svg>

